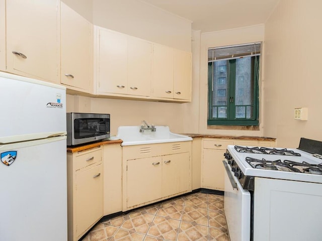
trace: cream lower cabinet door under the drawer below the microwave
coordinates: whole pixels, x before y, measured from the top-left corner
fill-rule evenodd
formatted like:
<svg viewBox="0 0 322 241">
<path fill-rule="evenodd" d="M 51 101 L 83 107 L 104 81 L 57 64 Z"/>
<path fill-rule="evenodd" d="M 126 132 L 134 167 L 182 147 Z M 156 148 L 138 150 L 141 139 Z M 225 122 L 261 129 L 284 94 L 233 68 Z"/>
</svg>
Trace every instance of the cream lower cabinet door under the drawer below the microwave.
<svg viewBox="0 0 322 241">
<path fill-rule="evenodd" d="M 103 216 L 103 165 L 76 172 L 76 238 Z"/>
</svg>

